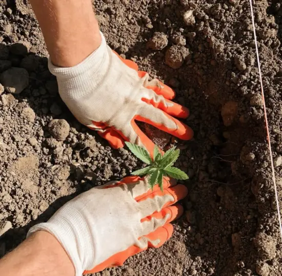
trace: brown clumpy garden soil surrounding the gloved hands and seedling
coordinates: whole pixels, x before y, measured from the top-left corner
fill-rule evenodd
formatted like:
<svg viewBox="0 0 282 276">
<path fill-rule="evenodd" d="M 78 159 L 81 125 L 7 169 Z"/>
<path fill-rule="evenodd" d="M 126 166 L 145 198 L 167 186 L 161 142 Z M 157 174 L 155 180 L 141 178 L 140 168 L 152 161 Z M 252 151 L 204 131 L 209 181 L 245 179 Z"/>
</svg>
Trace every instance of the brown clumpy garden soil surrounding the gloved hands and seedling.
<svg viewBox="0 0 282 276">
<path fill-rule="evenodd" d="M 192 141 L 173 141 L 190 192 L 172 239 L 95 275 L 279 275 L 282 243 L 249 1 L 93 3 L 109 45 L 175 89 L 195 132 Z M 254 3 L 280 206 L 281 6 Z M 142 164 L 126 149 L 111 149 L 65 107 L 26 0 L 2 1 L 0 26 L 1 256 L 73 196 Z"/>
</svg>

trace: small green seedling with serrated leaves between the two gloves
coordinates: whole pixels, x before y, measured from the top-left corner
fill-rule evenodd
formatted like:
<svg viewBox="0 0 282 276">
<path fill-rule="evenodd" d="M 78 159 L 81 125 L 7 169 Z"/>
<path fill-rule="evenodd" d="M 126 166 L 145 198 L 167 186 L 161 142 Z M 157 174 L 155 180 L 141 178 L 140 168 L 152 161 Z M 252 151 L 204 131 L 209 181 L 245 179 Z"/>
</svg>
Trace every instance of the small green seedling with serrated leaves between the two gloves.
<svg viewBox="0 0 282 276">
<path fill-rule="evenodd" d="M 184 171 L 173 167 L 173 164 L 179 157 L 179 149 L 175 149 L 176 147 L 172 147 L 162 155 L 159 148 L 155 146 L 154 160 L 152 160 L 150 153 L 145 148 L 129 142 L 125 143 L 138 159 L 149 165 L 146 168 L 139 169 L 131 174 L 140 176 L 146 175 L 152 189 L 154 185 L 158 184 L 159 188 L 163 191 L 163 176 L 170 176 L 171 178 L 178 180 L 188 179 L 188 175 Z"/>
</svg>

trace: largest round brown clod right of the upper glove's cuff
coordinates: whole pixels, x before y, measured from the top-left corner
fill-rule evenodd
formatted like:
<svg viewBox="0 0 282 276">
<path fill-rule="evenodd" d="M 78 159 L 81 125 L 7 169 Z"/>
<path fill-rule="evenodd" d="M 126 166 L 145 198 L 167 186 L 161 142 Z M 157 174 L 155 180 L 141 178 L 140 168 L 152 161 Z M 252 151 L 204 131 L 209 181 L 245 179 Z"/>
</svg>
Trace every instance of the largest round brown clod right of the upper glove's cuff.
<svg viewBox="0 0 282 276">
<path fill-rule="evenodd" d="M 181 67 L 185 58 L 189 55 L 189 50 L 184 46 L 171 46 L 166 52 L 166 64 L 173 69 Z"/>
</svg>

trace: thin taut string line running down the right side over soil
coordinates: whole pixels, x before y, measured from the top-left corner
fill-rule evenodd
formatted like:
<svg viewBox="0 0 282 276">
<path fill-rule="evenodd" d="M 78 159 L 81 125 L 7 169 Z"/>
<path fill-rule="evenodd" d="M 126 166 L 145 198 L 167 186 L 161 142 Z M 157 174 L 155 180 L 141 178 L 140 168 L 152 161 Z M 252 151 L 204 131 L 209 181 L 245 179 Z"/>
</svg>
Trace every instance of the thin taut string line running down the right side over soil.
<svg viewBox="0 0 282 276">
<path fill-rule="evenodd" d="M 253 30 L 254 30 L 254 38 L 255 38 L 255 49 L 256 49 L 257 66 L 258 66 L 258 72 L 259 72 L 261 96 L 263 97 L 263 104 L 264 104 L 265 121 L 266 121 L 266 132 L 267 132 L 267 140 L 268 140 L 268 147 L 269 147 L 269 153 L 270 153 L 270 162 L 271 162 L 271 169 L 272 169 L 272 180 L 273 180 L 273 184 L 274 184 L 276 207 L 277 207 L 277 212 L 278 212 L 278 222 L 279 222 L 279 228 L 280 228 L 280 234 L 281 234 L 281 240 L 282 240 L 281 214 L 280 214 L 277 186 L 276 186 L 276 181 L 275 181 L 275 170 L 274 170 L 274 164 L 273 164 L 273 157 L 272 157 L 272 150 L 271 150 L 271 143 L 270 143 L 270 135 L 269 135 L 269 128 L 268 128 L 268 120 L 267 120 L 267 113 L 266 113 L 266 102 L 265 102 L 265 93 L 264 93 L 264 87 L 263 87 L 263 77 L 261 76 L 261 71 L 260 71 L 260 62 L 259 62 L 259 54 L 258 54 L 258 47 L 257 47 L 257 40 L 256 40 L 255 20 L 254 20 L 252 0 L 250 0 L 250 6 L 251 6 L 251 15 L 252 15 Z"/>
</svg>

